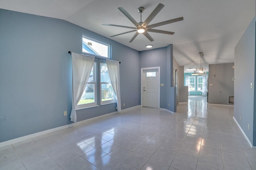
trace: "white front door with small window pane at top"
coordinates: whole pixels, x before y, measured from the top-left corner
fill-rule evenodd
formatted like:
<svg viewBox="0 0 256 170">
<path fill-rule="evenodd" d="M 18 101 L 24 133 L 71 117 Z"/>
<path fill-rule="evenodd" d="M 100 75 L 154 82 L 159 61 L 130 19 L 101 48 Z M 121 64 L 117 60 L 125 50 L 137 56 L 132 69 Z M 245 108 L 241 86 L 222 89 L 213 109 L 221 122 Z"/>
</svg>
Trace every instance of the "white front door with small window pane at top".
<svg viewBox="0 0 256 170">
<path fill-rule="evenodd" d="M 142 106 L 159 108 L 159 68 L 142 70 Z"/>
</svg>

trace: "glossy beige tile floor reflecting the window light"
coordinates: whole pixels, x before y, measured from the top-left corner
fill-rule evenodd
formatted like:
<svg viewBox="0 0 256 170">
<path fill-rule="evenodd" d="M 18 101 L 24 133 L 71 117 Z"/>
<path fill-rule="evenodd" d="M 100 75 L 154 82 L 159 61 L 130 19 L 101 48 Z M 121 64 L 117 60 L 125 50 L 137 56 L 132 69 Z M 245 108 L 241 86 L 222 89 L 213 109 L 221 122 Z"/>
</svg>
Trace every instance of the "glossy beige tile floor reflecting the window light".
<svg viewBox="0 0 256 170">
<path fill-rule="evenodd" d="M 139 107 L 0 148 L 0 170 L 256 170 L 233 107 L 190 96 L 177 113 Z"/>
</svg>

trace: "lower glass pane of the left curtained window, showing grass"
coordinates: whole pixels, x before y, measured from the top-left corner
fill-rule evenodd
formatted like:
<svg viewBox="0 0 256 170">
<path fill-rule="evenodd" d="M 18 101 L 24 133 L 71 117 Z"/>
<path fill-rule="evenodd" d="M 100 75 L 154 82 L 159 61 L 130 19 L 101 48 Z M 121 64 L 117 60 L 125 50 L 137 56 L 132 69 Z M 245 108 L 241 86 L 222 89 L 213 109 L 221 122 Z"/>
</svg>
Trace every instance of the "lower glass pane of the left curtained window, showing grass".
<svg viewBox="0 0 256 170">
<path fill-rule="evenodd" d="M 86 84 L 82 97 L 77 105 L 94 103 L 94 84 Z"/>
</svg>

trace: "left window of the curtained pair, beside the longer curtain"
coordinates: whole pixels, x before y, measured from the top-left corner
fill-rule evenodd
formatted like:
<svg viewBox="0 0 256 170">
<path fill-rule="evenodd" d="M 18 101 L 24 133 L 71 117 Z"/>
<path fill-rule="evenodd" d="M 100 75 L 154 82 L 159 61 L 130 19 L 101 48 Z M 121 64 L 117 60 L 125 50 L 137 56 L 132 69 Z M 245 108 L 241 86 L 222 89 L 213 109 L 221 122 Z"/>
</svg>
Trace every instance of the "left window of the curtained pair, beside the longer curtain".
<svg viewBox="0 0 256 170">
<path fill-rule="evenodd" d="M 92 66 L 92 71 L 90 73 L 90 77 L 84 89 L 84 92 L 81 96 L 80 101 L 77 104 L 77 108 L 90 107 L 97 105 L 97 64 L 94 63 Z"/>
</svg>

